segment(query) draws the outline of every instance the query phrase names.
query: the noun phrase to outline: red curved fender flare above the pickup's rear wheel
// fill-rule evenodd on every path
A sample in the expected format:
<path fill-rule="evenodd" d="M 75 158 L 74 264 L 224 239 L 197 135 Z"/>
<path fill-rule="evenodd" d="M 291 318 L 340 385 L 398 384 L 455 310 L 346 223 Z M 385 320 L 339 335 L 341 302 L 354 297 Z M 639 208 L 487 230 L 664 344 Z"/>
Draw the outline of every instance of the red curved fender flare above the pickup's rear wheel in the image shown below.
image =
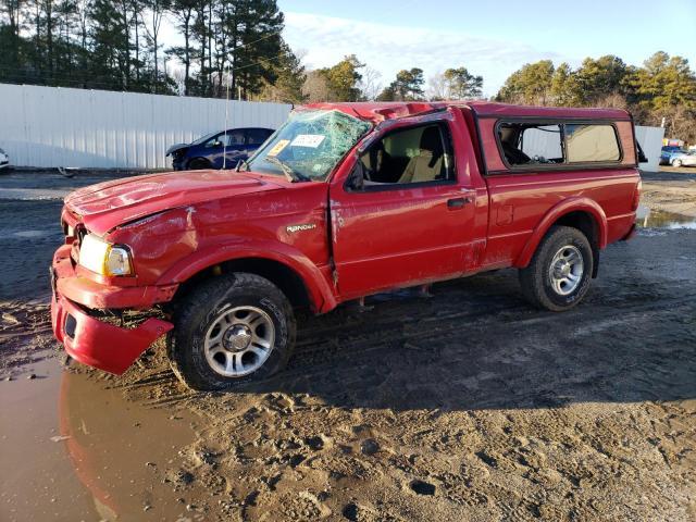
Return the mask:
<path fill-rule="evenodd" d="M 571 212 L 586 212 L 593 216 L 595 223 L 597 224 L 597 234 L 598 234 L 598 247 L 600 249 L 607 246 L 607 214 L 601 209 L 601 207 L 589 198 L 569 198 L 559 202 L 558 204 L 551 207 L 542 221 L 536 225 L 532 236 L 527 239 L 524 248 L 518 259 L 514 262 L 514 266 L 517 268 L 525 268 L 532 261 L 532 257 L 536 251 L 539 243 L 546 235 L 554 224 L 561 219 L 563 215 L 569 214 Z"/>

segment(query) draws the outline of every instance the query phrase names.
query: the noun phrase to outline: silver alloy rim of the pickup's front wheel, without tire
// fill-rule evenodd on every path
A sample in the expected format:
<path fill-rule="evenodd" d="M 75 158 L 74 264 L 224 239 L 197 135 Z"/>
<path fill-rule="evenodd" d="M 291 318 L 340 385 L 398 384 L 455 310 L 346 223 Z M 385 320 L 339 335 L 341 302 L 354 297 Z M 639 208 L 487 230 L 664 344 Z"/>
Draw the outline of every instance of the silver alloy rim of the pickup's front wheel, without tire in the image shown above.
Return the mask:
<path fill-rule="evenodd" d="M 243 377 L 268 361 L 275 344 L 271 316 L 257 307 L 236 307 L 217 314 L 206 332 L 210 368 L 225 377 Z"/>

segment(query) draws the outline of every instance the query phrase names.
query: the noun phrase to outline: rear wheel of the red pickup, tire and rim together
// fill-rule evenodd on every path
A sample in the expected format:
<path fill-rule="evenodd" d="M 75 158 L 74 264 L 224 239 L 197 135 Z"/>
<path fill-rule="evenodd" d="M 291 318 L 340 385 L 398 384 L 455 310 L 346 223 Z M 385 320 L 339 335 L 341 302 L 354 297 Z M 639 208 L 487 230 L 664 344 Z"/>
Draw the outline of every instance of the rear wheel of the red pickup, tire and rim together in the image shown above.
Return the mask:
<path fill-rule="evenodd" d="M 555 226 L 542 240 L 530 264 L 520 270 L 524 297 L 533 304 L 561 312 L 577 304 L 594 268 L 592 247 L 577 228 Z"/>

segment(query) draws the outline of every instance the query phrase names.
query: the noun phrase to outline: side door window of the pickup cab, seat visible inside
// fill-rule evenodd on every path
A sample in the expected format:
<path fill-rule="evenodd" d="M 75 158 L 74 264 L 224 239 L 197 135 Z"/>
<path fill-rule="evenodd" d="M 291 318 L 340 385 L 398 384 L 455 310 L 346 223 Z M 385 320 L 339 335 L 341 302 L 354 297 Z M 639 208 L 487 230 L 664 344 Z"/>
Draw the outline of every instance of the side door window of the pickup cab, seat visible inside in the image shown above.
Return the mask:
<path fill-rule="evenodd" d="M 446 129 L 439 124 L 395 130 L 361 157 L 364 186 L 407 185 L 452 178 Z"/>

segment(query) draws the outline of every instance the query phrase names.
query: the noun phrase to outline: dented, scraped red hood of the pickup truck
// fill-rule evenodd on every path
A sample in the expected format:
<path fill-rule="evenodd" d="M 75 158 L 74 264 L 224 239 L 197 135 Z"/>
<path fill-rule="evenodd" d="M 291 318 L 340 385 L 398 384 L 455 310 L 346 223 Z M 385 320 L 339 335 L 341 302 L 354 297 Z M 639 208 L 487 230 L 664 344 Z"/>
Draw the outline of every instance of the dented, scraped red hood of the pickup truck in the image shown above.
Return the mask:
<path fill-rule="evenodd" d="M 87 229 L 103 235 L 164 210 L 278 188 L 282 185 L 234 171 L 164 173 L 90 185 L 70 194 L 65 206 Z"/>

